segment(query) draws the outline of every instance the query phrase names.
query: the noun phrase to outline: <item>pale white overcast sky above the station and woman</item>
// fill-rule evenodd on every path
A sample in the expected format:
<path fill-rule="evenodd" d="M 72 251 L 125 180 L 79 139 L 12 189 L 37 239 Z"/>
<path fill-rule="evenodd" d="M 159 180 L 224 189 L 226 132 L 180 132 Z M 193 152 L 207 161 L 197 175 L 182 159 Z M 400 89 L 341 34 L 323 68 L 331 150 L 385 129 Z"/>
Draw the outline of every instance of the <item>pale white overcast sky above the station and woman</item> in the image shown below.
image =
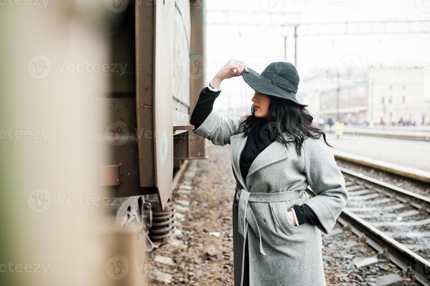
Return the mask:
<path fill-rule="evenodd" d="M 427 3 L 427 5 L 426 5 Z M 270 6 L 269 6 L 270 4 Z M 272 7 L 272 8 L 271 8 Z M 350 22 L 430 20 L 428 0 L 208 0 L 207 18 L 211 10 L 300 13 L 300 22 Z M 267 17 L 276 12 L 267 12 Z M 427 26 L 428 27 L 428 26 Z M 429 30 L 427 28 L 427 30 Z M 284 36 L 287 36 L 287 62 L 294 64 L 294 37 L 280 27 L 240 25 L 206 26 L 206 80 L 230 58 L 242 59 L 259 73 L 270 62 L 284 60 Z M 357 55 L 362 65 L 368 62 L 383 64 L 422 64 L 430 62 L 430 34 L 300 36 L 298 30 L 297 66 L 301 80 L 316 69 L 336 69 L 347 55 Z M 302 83 L 302 81 L 301 81 Z M 252 89 L 241 77 L 223 81 L 223 92 L 215 101 L 215 109 L 251 106 L 245 100 L 227 99 L 236 94 L 251 94 Z M 304 87 L 299 84 L 298 97 Z M 224 96 L 223 96 L 224 95 Z M 226 104 L 229 103 L 230 105 Z"/>

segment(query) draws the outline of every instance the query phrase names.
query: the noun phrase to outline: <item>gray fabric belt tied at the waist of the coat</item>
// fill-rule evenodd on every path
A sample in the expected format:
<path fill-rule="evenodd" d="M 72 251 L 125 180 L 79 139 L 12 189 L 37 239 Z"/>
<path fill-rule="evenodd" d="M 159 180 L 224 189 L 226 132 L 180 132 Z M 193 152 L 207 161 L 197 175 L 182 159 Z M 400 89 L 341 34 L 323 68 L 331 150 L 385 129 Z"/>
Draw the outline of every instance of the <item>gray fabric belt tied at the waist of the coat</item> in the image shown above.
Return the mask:
<path fill-rule="evenodd" d="M 263 249 L 263 243 L 261 242 L 260 228 L 258 228 L 257 220 L 255 219 L 251 206 L 249 206 L 249 202 L 283 202 L 295 199 L 296 197 L 301 197 L 303 193 L 303 190 L 283 191 L 276 193 L 250 193 L 243 188 L 239 189 L 236 193 L 236 199 L 239 201 L 239 212 L 237 214 L 237 228 L 239 233 L 245 238 L 245 225 L 246 221 L 248 221 L 255 235 L 260 240 L 260 252 L 263 255 L 266 255 Z"/>

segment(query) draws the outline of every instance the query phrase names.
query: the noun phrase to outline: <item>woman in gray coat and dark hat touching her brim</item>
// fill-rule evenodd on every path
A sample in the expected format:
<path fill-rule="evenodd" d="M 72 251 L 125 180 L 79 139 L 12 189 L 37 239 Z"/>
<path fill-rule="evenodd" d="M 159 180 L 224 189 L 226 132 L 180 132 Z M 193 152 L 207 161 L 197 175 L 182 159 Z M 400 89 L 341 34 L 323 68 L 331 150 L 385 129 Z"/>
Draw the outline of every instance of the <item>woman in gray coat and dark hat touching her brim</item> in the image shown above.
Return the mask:
<path fill-rule="evenodd" d="M 212 109 L 221 81 L 240 75 L 255 90 L 251 113 L 223 117 Z M 291 63 L 258 74 L 230 60 L 190 118 L 195 134 L 231 145 L 235 286 L 326 285 L 321 231 L 332 230 L 348 194 L 325 133 L 295 97 L 298 83 Z"/>

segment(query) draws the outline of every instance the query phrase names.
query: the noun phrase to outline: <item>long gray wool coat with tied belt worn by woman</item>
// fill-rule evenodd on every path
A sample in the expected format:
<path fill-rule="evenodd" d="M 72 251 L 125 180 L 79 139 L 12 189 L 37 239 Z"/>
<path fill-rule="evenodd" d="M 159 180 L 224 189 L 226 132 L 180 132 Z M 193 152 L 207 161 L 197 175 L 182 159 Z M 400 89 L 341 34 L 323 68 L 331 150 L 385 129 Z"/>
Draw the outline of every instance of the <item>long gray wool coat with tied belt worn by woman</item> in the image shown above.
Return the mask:
<path fill-rule="evenodd" d="M 193 133 L 215 145 L 231 145 L 231 163 L 237 185 L 233 198 L 234 285 L 243 285 L 249 271 L 250 285 L 326 285 L 322 264 L 321 231 L 329 233 L 346 206 L 344 177 L 333 152 L 319 139 L 307 137 L 301 156 L 291 145 L 279 141 L 265 148 L 252 162 L 246 180 L 240 173 L 240 154 L 246 137 L 239 130 L 240 117 L 223 117 L 212 110 Z M 242 133 L 233 135 L 233 132 Z M 315 197 L 309 199 L 308 186 Z M 322 228 L 305 223 L 295 226 L 287 212 L 306 204 Z M 245 239 L 248 238 L 249 269 L 244 269 Z"/>

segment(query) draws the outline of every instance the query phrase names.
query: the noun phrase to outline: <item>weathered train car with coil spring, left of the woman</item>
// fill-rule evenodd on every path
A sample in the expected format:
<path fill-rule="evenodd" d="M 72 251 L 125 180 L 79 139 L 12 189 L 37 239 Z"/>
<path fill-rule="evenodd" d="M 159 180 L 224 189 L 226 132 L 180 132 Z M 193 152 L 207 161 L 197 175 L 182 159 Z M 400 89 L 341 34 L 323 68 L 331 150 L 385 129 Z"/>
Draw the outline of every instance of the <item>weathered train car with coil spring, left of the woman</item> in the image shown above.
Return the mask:
<path fill-rule="evenodd" d="M 108 214 L 121 228 L 138 228 L 151 251 L 173 238 L 175 173 L 207 157 L 189 121 L 206 80 L 205 2 L 125 2 L 111 6 L 112 63 L 127 68 L 102 98 L 107 156 L 99 177 L 112 196 Z"/>

